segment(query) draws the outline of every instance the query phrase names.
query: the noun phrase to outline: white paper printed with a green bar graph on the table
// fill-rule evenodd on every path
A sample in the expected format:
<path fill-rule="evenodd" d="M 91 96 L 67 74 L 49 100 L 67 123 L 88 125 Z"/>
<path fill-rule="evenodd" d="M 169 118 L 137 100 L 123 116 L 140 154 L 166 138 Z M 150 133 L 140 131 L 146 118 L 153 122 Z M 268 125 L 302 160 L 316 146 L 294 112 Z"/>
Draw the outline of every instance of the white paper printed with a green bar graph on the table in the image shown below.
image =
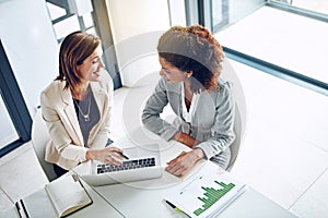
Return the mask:
<path fill-rule="evenodd" d="M 209 217 L 221 213 L 243 193 L 244 186 L 225 172 L 199 172 L 165 199 L 189 217 Z"/>

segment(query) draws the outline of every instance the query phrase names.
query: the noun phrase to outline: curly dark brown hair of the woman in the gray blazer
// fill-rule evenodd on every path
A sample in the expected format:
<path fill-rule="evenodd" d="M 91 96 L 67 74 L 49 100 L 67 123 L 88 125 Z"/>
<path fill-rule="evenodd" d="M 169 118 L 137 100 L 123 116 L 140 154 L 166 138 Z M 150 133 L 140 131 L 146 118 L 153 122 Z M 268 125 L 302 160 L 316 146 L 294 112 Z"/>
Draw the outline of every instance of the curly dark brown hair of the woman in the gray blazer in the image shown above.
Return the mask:
<path fill-rule="evenodd" d="M 157 44 L 161 58 L 179 69 L 192 71 L 191 90 L 219 88 L 216 78 L 221 74 L 224 58 L 222 46 L 201 25 L 173 26 Z"/>

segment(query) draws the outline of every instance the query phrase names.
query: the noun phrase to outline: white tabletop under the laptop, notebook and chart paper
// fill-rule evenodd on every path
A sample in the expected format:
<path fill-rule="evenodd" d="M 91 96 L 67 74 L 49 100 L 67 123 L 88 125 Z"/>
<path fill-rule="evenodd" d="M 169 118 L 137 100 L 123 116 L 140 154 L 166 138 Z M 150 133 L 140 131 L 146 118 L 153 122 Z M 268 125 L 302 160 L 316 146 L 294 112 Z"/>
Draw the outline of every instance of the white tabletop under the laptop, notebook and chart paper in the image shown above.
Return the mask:
<path fill-rule="evenodd" d="M 131 145 L 147 145 L 157 143 L 161 147 L 161 165 L 166 166 L 166 161 L 173 159 L 183 150 L 190 148 L 180 143 L 171 141 L 164 142 L 159 136 L 144 129 L 137 129 L 127 136 L 115 142 L 120 147 Z M 163 177 L 153 180 L 113 184 L 104 186 L 90 186 L 85 184 L 87 192 L 93 198 L 93 204 L 70 215 L 69 217 L 184 217 L 163 202 L 165 195 L 174 190 L 183 181 L 187 181 L 192 174 L 197 173 L 202 167 L 211 167 L 220 171 L 220 167 L 211 161 L 202 160 L 184 179 L 177 178 L 166 171 Z M 69 173 L 85 174 L 91 170 L 91 162 L 79 165 Z M 222 171 L 222 170 L 221 170 Z M 31 217 L 56 217 L 52 206 L 44 189 L 24 198 L 28 206 Z M 15 207 L 0 213 L 0 217 L 17 218 Z M 282 208 L 268 197 L 247 185 L 245 192 L 232 202 L 216 217 L 224 218 L 294 218 L 296 217 L 289 210 Z"/>

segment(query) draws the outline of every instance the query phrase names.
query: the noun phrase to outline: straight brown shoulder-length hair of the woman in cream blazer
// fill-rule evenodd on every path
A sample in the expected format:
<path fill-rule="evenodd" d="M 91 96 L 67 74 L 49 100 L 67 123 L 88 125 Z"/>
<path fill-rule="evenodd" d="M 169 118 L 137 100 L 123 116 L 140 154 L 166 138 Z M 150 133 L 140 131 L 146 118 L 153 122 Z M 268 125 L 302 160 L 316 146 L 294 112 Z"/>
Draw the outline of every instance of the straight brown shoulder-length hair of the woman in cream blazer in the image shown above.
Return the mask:
<path fill-rule="evenodd" d="M 74 89 L 81 83 L 81 75 L 77 66 L 91 56 L 101 45 L 101 39 L 92 34 L 81 31 L 69 34 L 62 40 L 59 50 L 59 75 L 58 81 L 66 81 L 65 88 Z"/>

